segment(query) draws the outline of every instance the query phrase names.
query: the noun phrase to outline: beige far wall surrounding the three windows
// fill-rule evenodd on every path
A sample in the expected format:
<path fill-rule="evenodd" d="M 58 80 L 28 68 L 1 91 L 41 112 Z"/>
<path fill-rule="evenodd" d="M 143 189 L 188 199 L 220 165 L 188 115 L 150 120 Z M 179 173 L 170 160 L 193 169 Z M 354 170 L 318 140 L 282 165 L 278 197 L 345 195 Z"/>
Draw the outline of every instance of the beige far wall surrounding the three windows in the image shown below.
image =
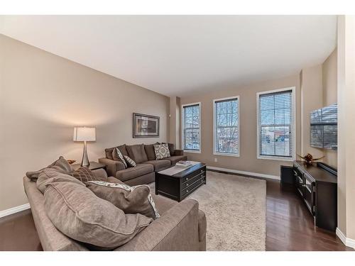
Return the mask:
<path fill-rule="evenodd" d="M 290 162 L 277 160 L 261 160 L 256 158 L 256 93 L 285 87 L 296 87 L 297 106 L 297 150 L 300 150 L 300 82 L 295 74 L 283 79 L 259 82 L 245 87 L 223 89 L 216 88 L 214 92 L 202 95 L 182 97 L 181 104 L 201 102 L 201 153 L 187 153 L 190 160 L 200 160 L 209 166 L 222 167 L 231 170 L 255 172 L 280 176 L 280 165 L 290 165 Z M 213 99 L 228 96 L 240 96 L 240 157 L 213 155 Z M 214 162 L 217 158 L 217 162 Z"/>

